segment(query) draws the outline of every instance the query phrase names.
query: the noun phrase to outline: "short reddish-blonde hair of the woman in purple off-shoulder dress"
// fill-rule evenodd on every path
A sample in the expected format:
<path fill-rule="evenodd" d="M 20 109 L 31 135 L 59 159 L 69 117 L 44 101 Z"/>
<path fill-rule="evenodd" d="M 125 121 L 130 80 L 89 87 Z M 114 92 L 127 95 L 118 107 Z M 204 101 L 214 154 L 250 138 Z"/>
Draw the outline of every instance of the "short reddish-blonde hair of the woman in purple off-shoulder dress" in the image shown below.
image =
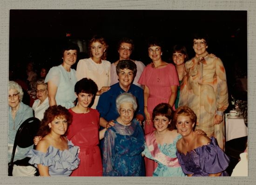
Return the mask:
<path fill-rule="evenodd" d="M 189 116 L 189 118 L 191 119 L 192 123 L 195 123 L 193 130 L 195 131 L 195 126 L 196 126 L 196 115 L 195 112 L 190 109 L 188 106 L 180 106 L 176 109 L 174 115 L 173 115 L 173 119 L 172 122 L 174 124 L 176 124 L 177 122 L 177 118 L 178 116 Z"/>

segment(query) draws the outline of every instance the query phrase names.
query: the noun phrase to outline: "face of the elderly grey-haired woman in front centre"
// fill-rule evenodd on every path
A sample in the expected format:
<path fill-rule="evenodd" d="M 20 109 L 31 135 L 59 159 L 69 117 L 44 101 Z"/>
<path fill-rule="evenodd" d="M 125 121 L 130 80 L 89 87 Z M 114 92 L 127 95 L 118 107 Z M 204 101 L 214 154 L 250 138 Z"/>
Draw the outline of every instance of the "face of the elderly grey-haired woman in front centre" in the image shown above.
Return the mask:
<path fill-rule="evenodd" d="M 120 105 L 118 113 L 120 115 L 122 123 L 124 123 L 125 125 L 129 125 L 133 120 L 134 116 L 133 104 L 129 102 L 122 103 Z"/>

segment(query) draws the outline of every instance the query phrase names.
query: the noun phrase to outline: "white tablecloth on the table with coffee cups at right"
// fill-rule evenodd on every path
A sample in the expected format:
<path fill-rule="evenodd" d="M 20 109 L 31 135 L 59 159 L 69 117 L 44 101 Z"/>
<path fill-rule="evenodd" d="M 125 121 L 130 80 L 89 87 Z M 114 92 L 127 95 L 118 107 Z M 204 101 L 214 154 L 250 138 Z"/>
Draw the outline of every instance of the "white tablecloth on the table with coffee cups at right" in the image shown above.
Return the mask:
<path fill-rule="evenodd" d="M 247 136 L 247 126 L 243 121 L 243 116 L 230 118 L 225 114 L 226 141 Z"/>

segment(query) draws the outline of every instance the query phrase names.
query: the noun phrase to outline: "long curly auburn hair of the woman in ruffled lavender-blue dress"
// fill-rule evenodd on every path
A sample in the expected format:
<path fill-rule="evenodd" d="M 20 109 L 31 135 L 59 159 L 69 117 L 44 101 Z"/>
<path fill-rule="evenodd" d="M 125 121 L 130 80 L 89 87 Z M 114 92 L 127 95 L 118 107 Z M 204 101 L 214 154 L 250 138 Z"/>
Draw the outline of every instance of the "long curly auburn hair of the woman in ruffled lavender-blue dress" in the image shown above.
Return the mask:
<path fill-rule="evenodd" d="M 67 119 L 67 128 L 72 123 L 72 114 L 63 106 L 50 106 L 44 112 L 44 118 L 41 121 L 40 128 L 37 132 L 37 136 L 44 137 L 50 133 L 51 129 L 48 124 L 51 123 L 55 118 Z"/>

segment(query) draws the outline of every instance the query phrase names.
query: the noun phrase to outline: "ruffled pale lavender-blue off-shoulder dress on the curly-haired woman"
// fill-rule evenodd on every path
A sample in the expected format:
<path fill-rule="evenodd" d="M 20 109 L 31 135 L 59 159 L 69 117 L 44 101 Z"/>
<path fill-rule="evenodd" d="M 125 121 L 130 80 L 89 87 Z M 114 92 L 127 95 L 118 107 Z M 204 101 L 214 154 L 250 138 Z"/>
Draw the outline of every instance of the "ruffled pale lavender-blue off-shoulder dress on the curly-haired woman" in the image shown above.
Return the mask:
<path fill-rule="evenodd" d="M 71 141 L 67 141 L 68 149 L 61 151 L 53 146 L 49 146 L 47 152 L 40 152 L 34 149 L 27 152 L 28 162 L 37 167 L 38 164 L 49 167 L 50 176 L 70 176 L 80 163 L 78 158 L 78 146 L 74 146 Z"/>

